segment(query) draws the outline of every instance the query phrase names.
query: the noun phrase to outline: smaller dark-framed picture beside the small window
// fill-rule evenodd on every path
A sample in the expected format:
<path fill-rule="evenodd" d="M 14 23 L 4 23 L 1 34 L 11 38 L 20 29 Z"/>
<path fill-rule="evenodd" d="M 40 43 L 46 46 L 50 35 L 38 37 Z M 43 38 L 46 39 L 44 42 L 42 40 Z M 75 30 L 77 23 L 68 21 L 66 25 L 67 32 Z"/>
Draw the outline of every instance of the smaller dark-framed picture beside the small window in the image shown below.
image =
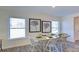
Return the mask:
<path fill-rule="evenodd" d="M 42 21 L 42 33 L 51 32 L 51 21 Z"/>

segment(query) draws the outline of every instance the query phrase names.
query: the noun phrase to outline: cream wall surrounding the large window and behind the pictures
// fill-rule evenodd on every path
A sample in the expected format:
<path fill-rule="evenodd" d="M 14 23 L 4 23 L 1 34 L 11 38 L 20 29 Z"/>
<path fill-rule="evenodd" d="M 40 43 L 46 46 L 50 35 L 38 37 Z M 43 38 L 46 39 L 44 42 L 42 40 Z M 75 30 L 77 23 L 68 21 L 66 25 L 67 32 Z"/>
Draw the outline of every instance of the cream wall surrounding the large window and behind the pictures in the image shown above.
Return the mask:
<path fill-rule="evenodd" d="M 22 17 L 26 19 L 26 39 L 16 39 L 16 40 L 9 40 L 9 17 Z M 20 12 L 14 12 L 14 11 L 5 11 L 0 10 L 0 39 L 2 39 L 2 48 L 11 48 L 21 45 L 29 44 L 28 38 L 34 38 L 38 33 L 29 33 L 29 18 L 38 18 L 41 20 L 59 20 L 60 17 L 51 17 L 46 14 L 26 14 L 26 13 L 20 13 Z"/>

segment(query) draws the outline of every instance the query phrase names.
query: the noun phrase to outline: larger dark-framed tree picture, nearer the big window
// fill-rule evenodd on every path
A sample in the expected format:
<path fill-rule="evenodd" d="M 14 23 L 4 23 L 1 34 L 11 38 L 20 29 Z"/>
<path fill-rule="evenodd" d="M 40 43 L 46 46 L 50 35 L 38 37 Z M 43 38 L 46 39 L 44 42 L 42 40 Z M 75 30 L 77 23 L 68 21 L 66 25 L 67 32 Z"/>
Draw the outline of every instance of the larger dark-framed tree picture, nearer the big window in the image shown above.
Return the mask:
<path fill-rule="evenodd" d="M 41 19 L 29 18 L 29 32 L 41 32 Z"/>

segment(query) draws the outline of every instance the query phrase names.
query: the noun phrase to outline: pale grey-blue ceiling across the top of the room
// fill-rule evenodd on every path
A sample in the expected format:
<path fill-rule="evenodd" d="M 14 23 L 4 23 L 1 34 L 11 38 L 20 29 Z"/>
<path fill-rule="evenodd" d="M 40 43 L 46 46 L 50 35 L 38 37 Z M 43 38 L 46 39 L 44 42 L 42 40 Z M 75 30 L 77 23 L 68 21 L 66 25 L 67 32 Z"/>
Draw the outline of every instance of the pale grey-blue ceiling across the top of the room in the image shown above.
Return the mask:
<path fill-rule="evenodd" d="M 21 13 L 43 13 L 51 16 L 66 16 L 79 12 L 79 6 L 0 6 L 0 10 L 18 11 Z"/>

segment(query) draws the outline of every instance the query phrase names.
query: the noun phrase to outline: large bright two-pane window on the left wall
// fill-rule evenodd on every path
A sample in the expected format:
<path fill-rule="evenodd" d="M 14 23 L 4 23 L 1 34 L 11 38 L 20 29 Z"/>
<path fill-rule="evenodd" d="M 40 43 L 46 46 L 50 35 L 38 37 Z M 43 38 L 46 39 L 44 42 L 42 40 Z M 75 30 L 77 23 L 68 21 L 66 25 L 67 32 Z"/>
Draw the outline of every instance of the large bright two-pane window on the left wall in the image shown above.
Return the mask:
<path fill-rule="evenodd" d="M 25 37 L 25 19 L 10 18 L 10 39 Z"/>

